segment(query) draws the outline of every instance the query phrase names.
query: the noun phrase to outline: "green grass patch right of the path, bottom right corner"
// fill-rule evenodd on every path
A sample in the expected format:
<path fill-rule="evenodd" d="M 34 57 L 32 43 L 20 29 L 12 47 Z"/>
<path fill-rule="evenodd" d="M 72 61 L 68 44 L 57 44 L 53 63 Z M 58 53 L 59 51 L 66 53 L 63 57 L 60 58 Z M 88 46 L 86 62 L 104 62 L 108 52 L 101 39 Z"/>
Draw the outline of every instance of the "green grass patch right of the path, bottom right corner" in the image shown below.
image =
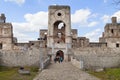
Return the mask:
<path fill-rule="evenodd" d="M 101 72 L 89 71 L 89 73 L 100 78 L 101 80 L 120 80 L 120 68 L 106 69 Z"/>

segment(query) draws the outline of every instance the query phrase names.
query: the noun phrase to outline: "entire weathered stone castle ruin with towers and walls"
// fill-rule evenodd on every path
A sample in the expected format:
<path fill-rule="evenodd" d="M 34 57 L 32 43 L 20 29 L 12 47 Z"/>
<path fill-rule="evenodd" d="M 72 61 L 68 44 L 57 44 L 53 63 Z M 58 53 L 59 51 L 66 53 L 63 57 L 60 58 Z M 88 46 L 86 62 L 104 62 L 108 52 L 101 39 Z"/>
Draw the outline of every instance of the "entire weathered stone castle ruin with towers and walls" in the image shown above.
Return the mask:
<path fill-rule="evenodd" d="M 12 24 L 6 23 L 5 15 L 1 14 L 1 65 L 38 65 L 40 56 L 50 56 L 53 60 L 57 52 L 62 51 L 65 61 L 72 56 L 77 61 L 83 61 L 85 68 L 119 66 L 120 23 L 117 23 L 116 17 L 112 17 L 112 23 L 105 25 L 99 42 L 89 42 L 88 38 L 77 35 L 77 29 L 71 29 L 69 6 L 49 6 L 48 15 L 48 29 L 40 30 L 38 40 L 17 43 Z"/>

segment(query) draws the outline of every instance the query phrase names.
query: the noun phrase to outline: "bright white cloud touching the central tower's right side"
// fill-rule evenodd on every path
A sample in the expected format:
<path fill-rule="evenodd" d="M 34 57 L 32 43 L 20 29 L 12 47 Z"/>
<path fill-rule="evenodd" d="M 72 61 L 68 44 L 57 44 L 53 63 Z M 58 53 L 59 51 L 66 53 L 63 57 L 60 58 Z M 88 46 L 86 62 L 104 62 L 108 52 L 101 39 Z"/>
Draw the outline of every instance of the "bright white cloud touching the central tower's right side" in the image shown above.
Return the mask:
<path fill-rule="evenodd" d="M 71 22 L 78 26 L 93 27 L 97 25 L 98 22 L 89 20 L 95 17 L 97 17 L 97 14 L 93 14 L 90 9 L 80 9 L 71 15 Z"/>

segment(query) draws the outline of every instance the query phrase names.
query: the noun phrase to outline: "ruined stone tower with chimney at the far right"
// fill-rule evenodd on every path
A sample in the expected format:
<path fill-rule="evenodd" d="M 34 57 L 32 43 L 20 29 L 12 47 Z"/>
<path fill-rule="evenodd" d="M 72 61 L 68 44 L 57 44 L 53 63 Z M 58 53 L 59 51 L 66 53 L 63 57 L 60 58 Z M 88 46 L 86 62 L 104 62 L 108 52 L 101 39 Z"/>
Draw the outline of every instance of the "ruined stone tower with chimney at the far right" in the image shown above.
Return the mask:
<path fill-rule="evenodd" d="M 105 31 L 103 32 L 100 42 L 106 42 L 108 47 L 119 48 L 120 47 L 120 23 L 117 23 L 117 17 L 111 18 L 112 23 L 105 25 Z"/>

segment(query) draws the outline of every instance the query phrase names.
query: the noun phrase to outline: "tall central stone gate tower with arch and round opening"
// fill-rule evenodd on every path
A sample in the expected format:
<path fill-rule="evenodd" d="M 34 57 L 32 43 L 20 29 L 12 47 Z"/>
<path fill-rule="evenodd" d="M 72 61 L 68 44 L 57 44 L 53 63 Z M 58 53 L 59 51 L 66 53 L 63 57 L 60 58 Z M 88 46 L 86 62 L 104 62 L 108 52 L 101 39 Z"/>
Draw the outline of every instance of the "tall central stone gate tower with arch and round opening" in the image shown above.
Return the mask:
<path fill-rule="evenodd" d="M 71 48 L 71 16 L 69 6 L 49 6 L 47 47 L 52 53 L 62 50 L 67 55 Z"/>

